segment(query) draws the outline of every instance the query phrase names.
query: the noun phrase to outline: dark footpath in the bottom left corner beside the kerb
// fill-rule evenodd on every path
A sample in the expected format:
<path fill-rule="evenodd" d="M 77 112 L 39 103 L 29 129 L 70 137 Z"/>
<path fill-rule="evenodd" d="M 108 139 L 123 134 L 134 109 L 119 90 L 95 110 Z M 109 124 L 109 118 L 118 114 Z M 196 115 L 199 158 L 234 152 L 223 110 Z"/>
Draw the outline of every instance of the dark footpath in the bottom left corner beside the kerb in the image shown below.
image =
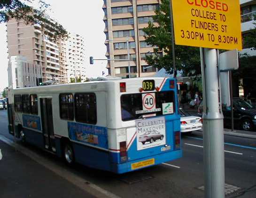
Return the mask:
<path fill-rule="evenodd" d="M 0 198 L 93 198 L 31 158 L 0 141 Z"/>

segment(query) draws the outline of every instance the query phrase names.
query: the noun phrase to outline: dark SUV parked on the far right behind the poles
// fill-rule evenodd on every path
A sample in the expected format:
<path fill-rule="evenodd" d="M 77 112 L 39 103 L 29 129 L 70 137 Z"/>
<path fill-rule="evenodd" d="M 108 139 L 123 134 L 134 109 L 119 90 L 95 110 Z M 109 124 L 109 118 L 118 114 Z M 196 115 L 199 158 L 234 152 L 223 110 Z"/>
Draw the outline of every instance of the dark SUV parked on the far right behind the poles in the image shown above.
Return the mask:
<path fill-rule="evenodd" d="M 198 107 L 198 115 L 202 116 L 202 102 Z M 224 126 L 231 128 L 231 107 L 222 106 L 224 115 Z M 234 127 L 243 131 L 254 131 L 256 129 L 256 109 L 240 98 L 233 99 Z"/>

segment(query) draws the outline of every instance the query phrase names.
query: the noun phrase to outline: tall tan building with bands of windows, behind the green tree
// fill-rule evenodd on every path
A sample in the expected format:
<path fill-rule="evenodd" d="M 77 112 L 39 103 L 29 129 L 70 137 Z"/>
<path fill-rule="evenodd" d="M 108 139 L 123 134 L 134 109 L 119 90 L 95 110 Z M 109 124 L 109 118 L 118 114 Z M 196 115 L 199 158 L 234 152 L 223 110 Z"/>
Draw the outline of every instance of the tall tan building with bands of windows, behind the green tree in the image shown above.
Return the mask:
<path fill-rule="evenodd" d="M 152 76 L 156 69 L 149 66 L 146 54 L 153 52 L 153 46 L 145 42 L 143 28 L 154 22 L 152 15 L 160 0 L 104 0 L 106 46 L 108 59 L 128 59 L 127 38 L 130 45 L 132 77 Z M 155 22 L 154 22 L 155 23 Z M 155 23 L 157 25 L 157 23 Z M 110 60 L 107 68 L 112 76 L 129 77 L 128 61 Z"/>

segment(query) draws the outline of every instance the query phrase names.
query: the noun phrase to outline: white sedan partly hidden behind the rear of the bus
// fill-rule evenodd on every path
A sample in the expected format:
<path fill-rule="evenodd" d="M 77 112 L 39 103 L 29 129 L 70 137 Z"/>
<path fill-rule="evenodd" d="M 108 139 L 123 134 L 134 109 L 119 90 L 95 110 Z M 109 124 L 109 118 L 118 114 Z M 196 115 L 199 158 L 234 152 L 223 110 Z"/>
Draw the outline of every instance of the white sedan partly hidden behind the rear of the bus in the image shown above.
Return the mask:
<path fill-rule="evenodd" d="M 202 129 L 202 118 L 191 116 L 183 109 L 179 109 L 180 132 L 193 132 Z"/>

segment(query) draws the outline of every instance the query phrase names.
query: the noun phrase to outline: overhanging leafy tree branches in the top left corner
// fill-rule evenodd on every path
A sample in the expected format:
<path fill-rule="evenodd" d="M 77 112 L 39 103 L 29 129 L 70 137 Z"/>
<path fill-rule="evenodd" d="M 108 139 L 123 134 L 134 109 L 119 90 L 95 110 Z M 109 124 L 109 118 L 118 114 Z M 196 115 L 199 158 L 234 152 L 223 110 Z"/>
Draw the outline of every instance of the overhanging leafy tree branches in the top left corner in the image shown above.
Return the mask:
<path fill-rule="evenodd" d="M 39 0 L 39 9 L 33 9 L 28 6 L 28 3 L 33 3 L 35 0 L 0 0 L 0 23 L 8 22 L 15 18 L 17 21 L 25 22 L 26 24 L 39 23 L 42 31 L 53 39 L 69 37 L 69 33 L 63 26 L 57 22 L 49 21 L 45 16 L 45 11 L 49 7 L 44 0 Z"/>

